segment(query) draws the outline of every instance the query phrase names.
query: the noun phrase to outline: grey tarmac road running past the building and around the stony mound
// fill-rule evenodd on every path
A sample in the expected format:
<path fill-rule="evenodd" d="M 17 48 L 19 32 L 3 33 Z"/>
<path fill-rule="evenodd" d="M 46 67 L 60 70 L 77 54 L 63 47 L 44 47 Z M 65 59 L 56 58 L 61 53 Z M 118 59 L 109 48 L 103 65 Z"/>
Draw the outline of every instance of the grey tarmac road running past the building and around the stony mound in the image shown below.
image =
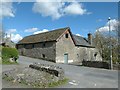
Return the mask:
<path fill-rule="evenodd" d="M 67 64 L 57 64 L 40 59 L 28 58 L 24 56 L 19 57 L 19 65 L 3 65 L 2 70 L 6 71 L 11 68 L 28 66 L 33 62 L 42 64 L 57 65 L 64 69 L 65 76 L 69 78 L 66 85 L 57 88 L 118 88 L 118 71 L 98 68 L 89 68 L 83 66 L 74 66 Z M 3 87 L 14 87 L 3 80 Z M 26 87 L 26 86 L 18 86 Z"/>

